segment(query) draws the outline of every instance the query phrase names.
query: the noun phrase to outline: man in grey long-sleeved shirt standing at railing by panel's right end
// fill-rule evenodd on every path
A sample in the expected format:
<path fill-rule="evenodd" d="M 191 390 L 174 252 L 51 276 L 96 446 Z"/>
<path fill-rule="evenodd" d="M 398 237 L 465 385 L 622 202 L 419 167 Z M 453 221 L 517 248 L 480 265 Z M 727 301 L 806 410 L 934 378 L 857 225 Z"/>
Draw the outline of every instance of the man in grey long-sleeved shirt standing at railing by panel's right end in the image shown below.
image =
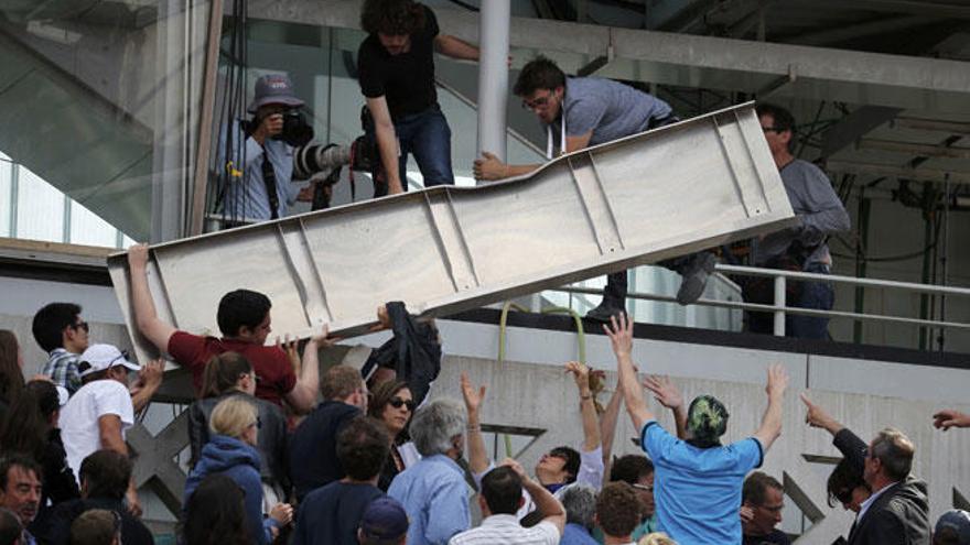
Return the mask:
<path fill-rule="evenodd" d="M 795 159 L 790 145 L 795 118 L 788 110 L 768 103 L 757 107 L 758 119 L 765 132 L 768 149 L 782 174 L 785 192 L 799 225 L 773 232 L 753 243 L 754 263 L 767 268 L 800 268 L 805 272 L 830 274 L 832 257 L 826 238 L 851 228 L 849 214 L 832 189 L 828 176 L 816 165 Z M 828 282 L 793 282 L 789 306 L 830 310 L 834 291 Z M 746 297 L 748 298 L 748 297 Z M 770 313 L 747 313 L 747 329 L 770 334 Z M 827 339 L 829 319 L 788 314 L 785 334 L 788 337 Z"/>

